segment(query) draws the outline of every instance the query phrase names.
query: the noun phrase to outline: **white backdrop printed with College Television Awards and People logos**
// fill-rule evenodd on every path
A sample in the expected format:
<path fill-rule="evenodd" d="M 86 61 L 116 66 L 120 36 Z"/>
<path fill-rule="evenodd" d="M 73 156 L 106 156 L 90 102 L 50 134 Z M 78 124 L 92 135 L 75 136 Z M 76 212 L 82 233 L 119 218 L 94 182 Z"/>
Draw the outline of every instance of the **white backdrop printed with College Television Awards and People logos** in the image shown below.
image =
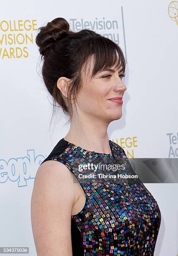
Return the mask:
<path fill-rule="evenodd" d="M 69 130 L 41 75 L 35 36 L 57 17 L 94 30 L 126 60 L 123 115 L 109 139 L 129 159 L 178 158 L 178 1 L 3 2 L 0 10 L 0 247 L 35 256 L 30 199 L 39 164 Z M 162 213 L 155 256 L 178 254 L 178 184 L 146 183 Z M 10 254 L 11 255 L 11 254 Z M 14 254 L 12 254 L 14 255 Z"/>

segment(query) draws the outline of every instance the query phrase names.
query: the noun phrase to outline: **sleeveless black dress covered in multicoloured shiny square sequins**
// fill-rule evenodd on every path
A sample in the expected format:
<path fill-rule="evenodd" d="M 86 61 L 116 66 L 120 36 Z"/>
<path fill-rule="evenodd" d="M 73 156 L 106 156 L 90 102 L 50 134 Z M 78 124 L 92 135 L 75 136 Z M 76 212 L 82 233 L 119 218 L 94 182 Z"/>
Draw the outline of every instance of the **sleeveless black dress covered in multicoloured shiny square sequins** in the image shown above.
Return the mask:
<path fill-rule="evenodd" d="M 123 148 L 110 140 L 109 144 L 111 153 L 102 154 L 62 138 L 43 161 L 65 164 L 85 192 L 83 209 L 71 215 L 73 256 L 152 256 L 161 214 L 157 201 L 144 184 L 139 179 L 137 182 L 133 179 L 132 183 L 79 179 L 76 166 L 108 159 L 118 163 L 126 161 L 129 172 L 135 174 Z M 84 172 L 87 174 L 88 170 Z"/>

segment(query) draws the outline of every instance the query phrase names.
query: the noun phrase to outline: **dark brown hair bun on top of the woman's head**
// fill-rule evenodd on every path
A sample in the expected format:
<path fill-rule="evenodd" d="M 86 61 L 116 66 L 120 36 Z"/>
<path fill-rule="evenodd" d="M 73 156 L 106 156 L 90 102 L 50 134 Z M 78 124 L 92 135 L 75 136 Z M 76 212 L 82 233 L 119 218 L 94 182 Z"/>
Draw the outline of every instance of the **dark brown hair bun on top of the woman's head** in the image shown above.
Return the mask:
<path fill-rule="evenodd" d="M 45 55 L 46 50 L 50 49 L 56 41 L 68 35 L 69 23 L 64 18 L 55 18 L 38 30 L 40 32 L 36 36 L 35 42 L 39 46 L 40 54 Z"/>

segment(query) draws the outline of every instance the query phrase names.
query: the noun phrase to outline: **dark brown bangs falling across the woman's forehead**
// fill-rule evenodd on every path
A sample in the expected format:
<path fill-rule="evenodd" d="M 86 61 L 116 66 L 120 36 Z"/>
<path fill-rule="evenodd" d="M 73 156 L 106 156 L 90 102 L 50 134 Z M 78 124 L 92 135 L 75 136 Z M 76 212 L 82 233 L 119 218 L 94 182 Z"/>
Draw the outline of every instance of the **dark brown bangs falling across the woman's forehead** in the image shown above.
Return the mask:
<path fill-rule="evenodd" d="M 89 64 L 88 73 L 90 72 L 91 59 L 93 56 L 93 70 L 90 74 L 91 78 L 111 67 L 120 69 L 120 71 L 123 71 L 123 74 L 125 74 L 125 57 L 123 51 L 117 44 L 103 36 L 94 38 L 92 44 L 89 40 L 88 44 L 89 47 L 85 45 L 85 61 L 87 61 L 83 68 L 86 72 L 86 63 Z"/>

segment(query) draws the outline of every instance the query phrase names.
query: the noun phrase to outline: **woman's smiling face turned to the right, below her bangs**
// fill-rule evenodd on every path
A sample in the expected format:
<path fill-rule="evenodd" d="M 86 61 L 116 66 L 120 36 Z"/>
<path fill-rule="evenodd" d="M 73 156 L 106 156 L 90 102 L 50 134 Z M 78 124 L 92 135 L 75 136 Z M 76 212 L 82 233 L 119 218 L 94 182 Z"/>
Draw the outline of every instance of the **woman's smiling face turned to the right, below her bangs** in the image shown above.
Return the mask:
<path fill-rule="evenodd" d="M 118 120 L 122 116 L 122 104 L 110 100 L 114 97 L 123 97 L 127 87 L 122 82 L 122 68 L 112 71 L 103 71 L 90 78 L 93 70 L 93 59 L 90 68 L 87 66 L 83 75 L 83 88 L 77 97 L 79 114 L 90 115 L 93 118 L 102 118 L 106 122 Z"/>

